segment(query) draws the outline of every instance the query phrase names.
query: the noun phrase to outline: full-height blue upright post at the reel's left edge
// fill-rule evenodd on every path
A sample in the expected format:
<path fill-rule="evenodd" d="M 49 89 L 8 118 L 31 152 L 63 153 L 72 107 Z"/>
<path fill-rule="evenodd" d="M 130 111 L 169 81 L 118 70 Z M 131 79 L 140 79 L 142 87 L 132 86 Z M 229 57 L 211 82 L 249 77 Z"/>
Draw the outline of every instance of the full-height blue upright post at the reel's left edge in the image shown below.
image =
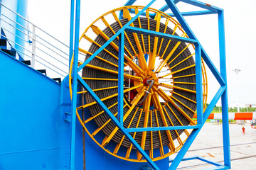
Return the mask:
<path fill-rule="evenodd" d="M 75 7 L 75 45 L 74 45 L 74 63 L 73 63 L 73 84 L 72 84 L 72 121 L 70 137 L 70 170 L 75 170 L 75 120 L 77 108 L 77 91 L 78 91 L 78 46 L 79 46 L 79 29 L 80 29 L 80 0 L 76 0 Z M 72 16 L 72 14 L 71 14 Z M 72 28 L 72 26 L 70 26 Z M 70 30 L 73 31 L 73 30 Z M 70 56 L 72 57 L 72 56 Z"/>

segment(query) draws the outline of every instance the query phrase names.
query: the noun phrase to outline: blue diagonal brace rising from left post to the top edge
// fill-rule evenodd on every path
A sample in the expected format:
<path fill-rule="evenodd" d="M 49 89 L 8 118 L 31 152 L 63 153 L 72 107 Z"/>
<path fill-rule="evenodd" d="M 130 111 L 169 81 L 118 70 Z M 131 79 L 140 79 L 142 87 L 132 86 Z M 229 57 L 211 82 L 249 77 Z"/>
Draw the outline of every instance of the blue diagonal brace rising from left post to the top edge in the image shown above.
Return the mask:
<path fill-rule="evenodd" d="M 85 67 L 86 64 L 88 64 L 90 61 L 92 61 L 92 59 L 93 59 L 96 55 L 98 55 L 103 49 L 105 49 L 105 47 L 107 47 L 107 45 L 109 45 L 110 42 L 112 42 L 112 41 L 114 40 L 114 38 L 117 38 L 117 36 L 118 36 L 120 33 L 122 33 L 129 25 L 131 25 L 131 23 L 132 23 L 133 21 L 135 21 L 144 11 L 146 11 L 146 9 L 149 8 L 149 6 L 151 6 L 151 4 L 154 3 L 154 1 L 156 1 L 156 0 L 150 1 L 149 4 L 147 4 L 147 5 L 142 9 L 142 11 L 139 11 L 139 13 L 138 13 L 136 16 L 134 16 L 134 17 L 133 17 L 127 24 L 125 24 L 121 29 L 119 29 L 119 30 L 117 31 L 117 33 L 115 33 L 115 34 L 112 36 L 112 38 L 110 38 L 110 40 L 107 40 L 107 42 L 105 42 L 105 44 L 102 45 L 102 47 L 100 47 L 95 53 L 93 53 L 92 56 L 90 56 L 84 63 L 82 63 L 82 65 L 78 68 L 78 72 L 79 72 L 83 67 Z"/>

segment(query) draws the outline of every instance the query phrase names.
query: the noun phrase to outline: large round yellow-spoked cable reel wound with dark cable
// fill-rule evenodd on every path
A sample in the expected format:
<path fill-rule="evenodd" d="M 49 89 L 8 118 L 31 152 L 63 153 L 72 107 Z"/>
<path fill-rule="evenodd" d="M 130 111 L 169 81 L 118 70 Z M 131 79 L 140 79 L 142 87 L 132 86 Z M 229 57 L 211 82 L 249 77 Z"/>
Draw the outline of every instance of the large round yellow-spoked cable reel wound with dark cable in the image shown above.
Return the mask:
<path fill-rule="evenodd" d="M 130 8 L 141 7 L 130 6 Z M 126 10 L 126 8 L 116 9 L 116 11 L 119 10 Z M 110 11 L 107 14 L 112 14 L 115 17 L 116 11 Z M 159 13 L 159 11 L 154 9 L 151 9 L 151 11 Z M 91 43 L 87 51 L 80 49 L 80 52 L 86 55 L 85 61 L 132 18 L 124 17 L 118 20 L 115 17 L 116 21 L 108 24 L 104 18 L 107 14 L 97 19 L 105 23 L 105 29 L 100 30 L 100 28 L 95 26 L 95 23 L 90 25 L 90 28 L 97 35 L 94 40 L 88 38 L 85 34 L 82 36 L 82 38 Z M 161 15 L 164 16 L 166 14 L 161 13 Z M 174 20 L 169 16 L 167 19 L 170 21 Z M 180 28 L 170 28 L 157 19 L 144 16 L 137 18 L 131 26 L 176 36 L 178 36 L 176 29 Z M 178 26 L 178 23 L 176 26 Z M 196 125 L 192 120 L 193 115 L 196 113 L 196 71 L 195 61 L 193 60 L 194 54 L 188 48 L 190 44 L 128 31 L 124 33 L 124 68 L 127 69 L 124 70 L 124 128 Z M 82 79 L 105 103 L 105 106 L 109 108 L 115 117 L 117 117 L 117 88 L 119 86 L 118 47 L 119 40 L 117 37 L 82 69 Z M 143 65 L 142 61 L 145 54 L 149 55 L 149 61 L 145 62 L 146 66 Z M 153 57 L 159 59 L 154 64 L 151 63 L 154 61 Z M 135 60 L 138 60 L 139 64 Z M 204 65 L 202 64 L 202 66 L 205 73 Z M 128 69 L 131 70 L 128 72 Z M 165 74 L 161 70 L 165 70 L 162 71 Z M 166 83 L 163 80 L 166 80 Z M 149 88 L 149 84 L 145 84 L 145 82 L 154 82 L 154 84 L 152 88 Z M 204 76 L 203 82 L 205 82 L 203 84 L 205 89 L 207 83 Z M 168 92 L 164 90 L 168 90 Z M 147 91 L 149 91 L 148 96 L 146 95 Z M 103 149 L 121 159 L 143 162 L 144 159 L 139 157 L 138 154 L 137 160 L 129 158 L 131 150 L 135 149 L 132 143 L 112 123 L 90 94 L 87 94 L 86 91 L 81 91 L 80 93 L 84 94 L 86 104 L 82 103 L 82 106 L 78 107 L 77 110 L 88 108 L 90 111 L 90 118 L 82 123 L 90 137 L 95 140 L 94 137 L 99 132 L 103 132 L 105 135 L 104 139 L 100 141 L 95 140 Z M 138 103 L 142 104 L 139 105 Z M 93 132 L 89 132 L 85 124 L 91 120 L 97 125 L 97 129 Z M 184 140 L 180 136 L 183 132 L 185 132 L 187 137 L 189 136 L 187 130 L 130 132 L 130 135 L 141 145 L 142 149 L 149 150 L 151 159 L 159 160 L 182 147 Z M 178 147 L 174 144 L 175 141 L 178 141 L 176 142 L 179 144 Z M 116 143 L 114 151 L 107 149 L 107 145 L 110 142 Z M 164 153 L 163 148 L 165 146 L 169 147 L 169 153 L 167 154 Z M 126 148 L 125 156 L 117 154 L 120 148 Z M 161 157 L 152 156 L 155 149 L 160 150 Z"/>

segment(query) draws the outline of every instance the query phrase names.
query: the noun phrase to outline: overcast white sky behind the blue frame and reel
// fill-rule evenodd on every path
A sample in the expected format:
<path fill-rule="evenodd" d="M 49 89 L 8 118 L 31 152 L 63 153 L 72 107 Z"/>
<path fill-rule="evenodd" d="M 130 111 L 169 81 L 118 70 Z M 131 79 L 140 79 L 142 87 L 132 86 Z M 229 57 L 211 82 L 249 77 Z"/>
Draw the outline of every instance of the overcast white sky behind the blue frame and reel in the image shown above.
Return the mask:
<path fill-rule="evenodd" d="M 125 2 L 125 0 L 81 0 L 80 34 L 98 16 L 123 6 Z M 137 0 L 137 4 L 142 6 L 148 2 L 148 0 Z M 256 1 L 208 0 L 204 2 L 225 10 L 228 103 L 236 103 L 237 80 L 233 69 L 238 68 L 242 70 L 238 74 L 239 101 L 243 104 L 256 104 L 256 44 L 254 42 L 256 40 Z M 151 7 L 161 8 L 164 3 L 163 0 L 156 0 Z M 197 9 L 181 2 L 178 3 L 178 8 L 180 11 Z M 28 0 L 28 18 L 36 26 L 69 44 L 69 0 Z M 217 15 L 189 16 L 185 19 L 219 69 Z M 208 103 L 218 87 L 218 82 L 208 71 Z"/>

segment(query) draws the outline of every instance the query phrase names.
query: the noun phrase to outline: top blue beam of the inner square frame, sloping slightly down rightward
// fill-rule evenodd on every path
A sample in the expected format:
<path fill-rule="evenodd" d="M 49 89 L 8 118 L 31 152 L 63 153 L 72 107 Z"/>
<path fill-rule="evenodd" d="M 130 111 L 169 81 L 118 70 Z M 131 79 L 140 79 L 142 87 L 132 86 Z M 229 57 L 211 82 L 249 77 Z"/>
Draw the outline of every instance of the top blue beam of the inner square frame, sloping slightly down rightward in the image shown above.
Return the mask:
<path fill-rule="evenodd" d="M 179 36 L 176 36 L 176 35 L 170 35 L 170 34 L 156 32 L 154 30 L 146 30 L 146 29 L 136 28 L 136 27 L 131 27 L 131 26 L 127 27 L 125 29 L 125 31 L 129 31 L 129 32 L 132 32 L 132 33 L 140 33 L 140 34 L 143 34 L 143 35 L 151 35 L 151 36 L 154 36 L 154 37 L 165 38 L 165 39 L 168 39 L 168 40 L 176 40 L 176 41 L 181 41 L 181 42 L 187 42 L 187 43 L 191 43 L 191 44 L 197 42 L 197 40 L 193 40 L 191 38 L 182 38 L 182 37 L 179 37 Z"/>

